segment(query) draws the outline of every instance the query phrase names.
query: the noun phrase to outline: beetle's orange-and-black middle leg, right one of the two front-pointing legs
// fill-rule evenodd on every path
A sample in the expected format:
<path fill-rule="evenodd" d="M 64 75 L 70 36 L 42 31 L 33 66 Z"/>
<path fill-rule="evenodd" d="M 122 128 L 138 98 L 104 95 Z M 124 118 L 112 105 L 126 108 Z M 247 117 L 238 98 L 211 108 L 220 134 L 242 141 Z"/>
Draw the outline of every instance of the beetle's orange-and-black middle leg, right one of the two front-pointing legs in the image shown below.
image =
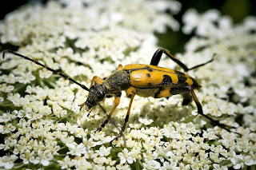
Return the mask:
<path fill-rule="evenodd" d="M 129 108 L 128 108 L 127 113 L 126 113 L 125 123 L 122 126 L 121 132 L 119 132 L 118 136 L 116 136 L 113 140 L 111 140 L 110 143 L 112 143 L 114 140 L 118 140 L 118 138 L 122 135 L 122 132 L 124 132 L 124 130 L 126 129 L 126 123 L 129 120 L 130 108 L 131 108 L 131 104 L 134 101 L 135 94 L 136 94 L 136 89 L 134 87 L 130 87 L 129 89 L 126 90 L 127 97 L 130 97 L 130 104 L 129 104 Z"/>

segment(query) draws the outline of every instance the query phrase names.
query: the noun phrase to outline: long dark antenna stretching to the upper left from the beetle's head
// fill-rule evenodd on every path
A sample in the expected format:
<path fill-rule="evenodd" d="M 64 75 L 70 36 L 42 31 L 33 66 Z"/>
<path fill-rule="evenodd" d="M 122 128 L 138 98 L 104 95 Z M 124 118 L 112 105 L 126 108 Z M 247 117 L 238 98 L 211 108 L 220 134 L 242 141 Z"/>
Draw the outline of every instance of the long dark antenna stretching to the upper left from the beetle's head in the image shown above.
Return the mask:
<path fill-rule="evenodd" d="M 74 82 L 75 84 L 77 84 L 77 85 L 79 85 L 80 87 L 82 87 L 82 89 L 85 89 L 86 91 L 90 91 L 90 89 L 88 89 L 88 88 L 86 87 L 86 85 L 82 85 L 81 83 L 78 83 L 78 81 L 74 81 L 72 78 L 66 76 L 65 74 L 63 74 L 63 73 L 61 73 L 61 72 L 58 72 L 58 71 L 56 71 L 56 70 L 54 70 L 54 69 L 50 69 L 50 68 L 47 67 L 46 65 L 42 65 L 40 62 L 35 61 L 35 60 L 31 59 L 30 57 L 23 56 L 23 55 L 20 54 L 20 53 L 15 53 L 14 51 L 12 51 L 12 50 L 10 50 L 10 49 L 6 49 L 6 50 L 4 50 L 4 51 L 2 52 L 2 58 L 5 58 L 5 53 L 6 53 L 6 52 L 8 52 L 8 53 L 13 53 L 14 55 L 16 55 L 16 56 L 18 56 L 18 57 L 22 57 L 22 58 L 24 58 L 24 59 L 26 59 L 26 60 L 32 61 L 32 62 L 34 62 L 35 64 L 40 65 L 40 66 L 42 66 L 42 67 L 48 69 L 49 71 L 51 71 L 51 72 L 53 72 L 53 73 L 57 73 L 57 74 L 60 75 L 61 77 L 66 78 L 66 80 L 69 80 L 69 81 Z"/>

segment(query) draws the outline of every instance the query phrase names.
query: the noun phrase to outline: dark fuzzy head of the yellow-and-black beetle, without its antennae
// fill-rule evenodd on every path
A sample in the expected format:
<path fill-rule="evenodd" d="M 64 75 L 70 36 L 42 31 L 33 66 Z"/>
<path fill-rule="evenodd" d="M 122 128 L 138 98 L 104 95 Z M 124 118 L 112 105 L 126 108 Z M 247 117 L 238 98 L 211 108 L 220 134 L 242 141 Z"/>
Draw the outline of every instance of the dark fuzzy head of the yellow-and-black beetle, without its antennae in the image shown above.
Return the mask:
<path fill-rule="evenodd" d="M 86 100 L 86 110 L 89 111 L 95 105 L 98 105 L 99 101 L 102 101 L 106 96 L 106 87 L 105 85 L 98 85 L 94 82 L 94 85 L 91 86 L 88 98 Z"/>

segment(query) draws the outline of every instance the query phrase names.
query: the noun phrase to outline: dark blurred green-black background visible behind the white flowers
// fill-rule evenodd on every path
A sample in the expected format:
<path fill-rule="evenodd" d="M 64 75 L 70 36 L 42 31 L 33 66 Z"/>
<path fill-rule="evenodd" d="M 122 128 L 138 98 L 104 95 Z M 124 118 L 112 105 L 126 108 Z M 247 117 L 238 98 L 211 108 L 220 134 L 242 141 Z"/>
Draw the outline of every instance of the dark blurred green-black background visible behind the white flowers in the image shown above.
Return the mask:
<path fill-rule="evenodd" d="M 0 10 L 0 20 L 2 20 L 6 14 L 28 2 L 46 3 L 47 0 L 5 1 L 5 5 L 2 4 Z M 223 15 L 230 15 L 231 18 L 233 18 L 234 23 L 242 22 L 243 18 L 246 18 L 246 16 L 249 15 L 256 16 L 256 0 L 181 0 L 179 2 L 182 3 L 182 10 L 178 13 L 178 15 L 175 15 L 174 18 L 181 23 L 181 27 L 182 15 L 190 8 L 198 10 L 199 13 L 203 13 L 209 9 L 217 9 Z M 193 34 L 184 35 L 181 31 L 173 32 L 170 29 L 167 30 L 166 34 L 156 35 L 159 38 L 158 45 L 162 46 L 163 48 L 170 49 L 171 53 L 182 53 L 184 51 L 184 44 L 193 36 Z"/>

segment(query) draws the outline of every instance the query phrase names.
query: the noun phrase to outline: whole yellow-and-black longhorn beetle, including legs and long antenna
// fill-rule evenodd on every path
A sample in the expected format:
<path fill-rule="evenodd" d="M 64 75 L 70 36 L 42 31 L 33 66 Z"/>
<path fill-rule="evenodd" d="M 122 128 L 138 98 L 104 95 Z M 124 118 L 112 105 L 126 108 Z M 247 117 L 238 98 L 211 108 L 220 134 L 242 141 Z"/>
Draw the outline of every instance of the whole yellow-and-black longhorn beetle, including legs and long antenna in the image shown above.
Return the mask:
<path fill-rule="evenodd" d="M 120 137 L 122 135 L 122 132 L 125 130 L 126 123 L 130 116 L 130 108 L 136 94 L 141 97 L 154 98 L 170 97 L 175 94 L 181 94 L 183 97 L 182 105 L 188 105 L 192 101 L 192 99 L 194 99 L 194 102 L 198 107 L 198 114 L 214 122 L 215 125 L 226 129 L 226 131 L 228 132 L 231 132 L 230 129 L 225 127 L 225 125 L 218 123 L 218 121 L 214 121 L 212 118 L 208 117 L 202 112 L 202 105 L 200 104 L 200 102 L 198 101 L 198 97 L 194 93 L 194 89 L 200 89 L 201 85 L 199 85 L 193 77 L 190 77 L 186 73 L 175 71 L 173 69 L 158 67 L 158 63 L 162 57 L 162 53 L 165 53 L 167 57 L 170 57 L 172 61 L 176 62 L 179 66 L 181 66 L 185 72 L 188 72 L 191 69 L 196 69 L 202 65 L 206 65 L 207 63 L 214 61 L 214 55 L 210 59 L 210 61 L 206 61 L 205 63 L 196 65 L 188 69 L 186 65 L 182 63 L 182 61 L 179 61 L 169 51 L 167 51 L 166 49 L 158 49 L 154 53 L 150 61 L 150 65 L 118 65 L 118 70 L 114 73 L 111 73 L 109 77 L 106 77 L 106 79 L 94 76 L 90 83 L 89 89 L 86 87 L 86 85 L 82 85 L 78 83 L 78 81 L 74 81 L 72 78 L 67 77 L 65 74 L 57 72 L 54 69 L 50 69 L 46 65 L 42 65 L 41 63 L 39 63 L 38 61 L 34 61 L 30 57 L 15 53 L 10 49 L 6 49 L 5 51 L 3 51 L 2 57 L 4 57 L 6 52 L 13 53 L 16 56 L 23 57 L 29 61 L 33 61 L 35 64 L 41 65 L 42 67 L 50 70 L 51 72 L 57 73 L 58 75 L 65 77 L 67 80 L 74 82 L 75 84 L 81 86 L 82 89 L 88 91 L 89 96 L 86 102 L 80 105 L 81 109 L 85 105 L 86 110 L 91 111 L 93 107 L 95 105 L 98 105 L 98 102 L 102 101 L 105 97 L 114 96 L 113 109 L 111 109 L 106 121 L 104 121 L 102 125 L 100 125 L 96 129 L 95 132 L 101 131 L 102 128 L 104 128 L 105 125 L 108 123 L 110 117 L 114 113 L 114 110 L 119 105 L 122 90 L 125 90 L 126 96 L 130 97 L 130 104 L 126 113 L 125 123 L 122 126 L 122 130 L 113 140 L 118 140 L 118 137 Z M 235 133 L 239 134 L 238 132 Z M 111 140 L 110 143 L 113 140 Z"/>

